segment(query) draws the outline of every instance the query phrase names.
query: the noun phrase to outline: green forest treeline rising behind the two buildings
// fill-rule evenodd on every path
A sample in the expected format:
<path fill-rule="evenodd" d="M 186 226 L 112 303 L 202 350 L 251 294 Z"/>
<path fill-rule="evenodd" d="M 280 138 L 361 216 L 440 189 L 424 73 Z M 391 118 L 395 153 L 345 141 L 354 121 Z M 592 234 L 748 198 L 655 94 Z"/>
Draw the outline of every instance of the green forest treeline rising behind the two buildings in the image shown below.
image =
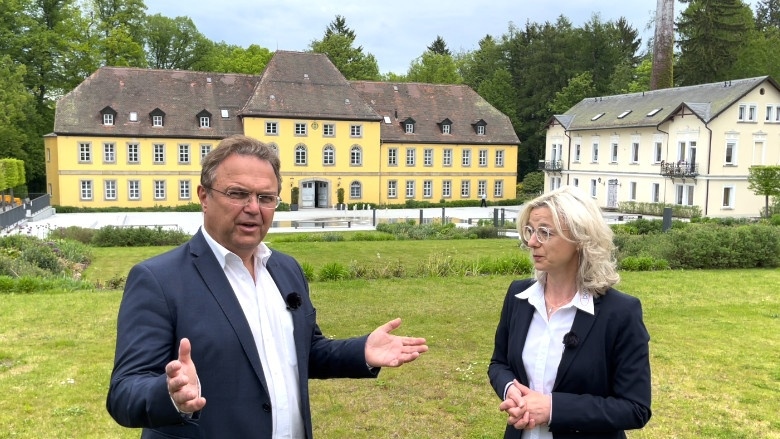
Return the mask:
<path fill-rule="evenodd" d="M 780 0 L 681 0 L 674 20 L 675 86 L 770 75 L 780 78 Z M 642 24 L 644 26 L 645 24 Z M 453 53 L 437 37 L 409 54 L 406 72 L 380 73 L 337 15 L 307 48 L 325 53 L 350 80 L 463 83 L 512 120 L 522 145 L 518 181 L 543 157 L 544 126 L 585 97 L 645 91 L 652 41 L 624 18 L 594 14 L 574 26 L 511 22 L 476 49 Z M 21 159 L 26 195 L 45 192 L 43 136 L 57 99 L 101 66 L 259 74 L 273 52 L 216 42 L 186 16 L 148 15 L 143 0 L 0 0 L 0 158 Z"/>

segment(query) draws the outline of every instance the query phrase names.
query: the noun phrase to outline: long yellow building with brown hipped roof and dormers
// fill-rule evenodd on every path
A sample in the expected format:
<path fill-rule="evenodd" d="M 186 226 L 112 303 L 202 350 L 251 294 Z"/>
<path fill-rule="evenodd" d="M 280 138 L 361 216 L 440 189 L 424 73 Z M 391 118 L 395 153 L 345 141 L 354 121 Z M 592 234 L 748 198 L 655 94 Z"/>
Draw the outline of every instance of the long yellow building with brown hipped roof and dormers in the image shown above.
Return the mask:
<path fill-rule="evenodd" d="M 302 208 L 514 198 L 511 122 L 462 85 L 347 81 L 321 54 L 276 52 L 260 76 L 103 67 L 57 104 L 52 204 L 197 202 L 202 157 L 246 134 L 281 159 Z"/>

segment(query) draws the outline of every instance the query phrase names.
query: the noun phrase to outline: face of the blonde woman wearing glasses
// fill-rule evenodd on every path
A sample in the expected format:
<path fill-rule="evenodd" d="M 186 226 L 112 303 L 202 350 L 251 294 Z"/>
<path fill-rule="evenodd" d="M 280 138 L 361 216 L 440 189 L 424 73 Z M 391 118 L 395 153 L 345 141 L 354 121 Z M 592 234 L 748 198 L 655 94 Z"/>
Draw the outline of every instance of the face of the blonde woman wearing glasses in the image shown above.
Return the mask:
<path fill-rule="evenodd" d="M 563 225 L 562 225 L 563 226 Z M 568 230 L 555 228 L 552 212 L 548 207 L 537 207 L 531 210 L 528 218 L 528 247 L 531 249 L 534 267 L 544 271 L 548 276 L 576 277 L 579 265 L 577 244 L 569 242 L 561 236 L 570 236 Z M 549 231 L 549 237 L 547 237 Z M 542 236 L 541 242 L 539 236 Z"/>

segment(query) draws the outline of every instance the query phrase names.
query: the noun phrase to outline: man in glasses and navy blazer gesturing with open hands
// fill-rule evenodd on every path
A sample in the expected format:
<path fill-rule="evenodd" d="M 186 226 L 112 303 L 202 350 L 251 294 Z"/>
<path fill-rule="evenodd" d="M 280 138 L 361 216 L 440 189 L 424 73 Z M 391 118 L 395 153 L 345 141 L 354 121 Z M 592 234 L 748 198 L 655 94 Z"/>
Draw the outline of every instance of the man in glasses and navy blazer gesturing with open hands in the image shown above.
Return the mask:
<path fill-rule="evenodd" d="M 309 378 L 375 377 L 425 339 L 392 320 L 330 340 L 300 265 L 262 241 L 279 204 L 276 153 L 244 136 L 203 160 L 203 227 L 130 270 L 107 409 L 142 438 L 311 438 Z M 197 367 L 197 369 L 196 369 Z"/>

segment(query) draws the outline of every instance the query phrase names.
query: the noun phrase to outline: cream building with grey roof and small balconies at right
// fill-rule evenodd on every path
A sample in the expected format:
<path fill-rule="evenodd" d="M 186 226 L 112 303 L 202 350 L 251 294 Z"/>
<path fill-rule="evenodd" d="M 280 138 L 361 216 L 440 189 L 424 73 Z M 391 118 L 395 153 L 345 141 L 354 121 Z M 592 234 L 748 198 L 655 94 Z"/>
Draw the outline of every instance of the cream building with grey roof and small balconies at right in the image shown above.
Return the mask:
<path fill-rule="evenodd" d="M 757 217 L 751 166 L 780 164 L 780 87 L 768 76 L 583 99 L 547 129 L 545 190 Z"/>

